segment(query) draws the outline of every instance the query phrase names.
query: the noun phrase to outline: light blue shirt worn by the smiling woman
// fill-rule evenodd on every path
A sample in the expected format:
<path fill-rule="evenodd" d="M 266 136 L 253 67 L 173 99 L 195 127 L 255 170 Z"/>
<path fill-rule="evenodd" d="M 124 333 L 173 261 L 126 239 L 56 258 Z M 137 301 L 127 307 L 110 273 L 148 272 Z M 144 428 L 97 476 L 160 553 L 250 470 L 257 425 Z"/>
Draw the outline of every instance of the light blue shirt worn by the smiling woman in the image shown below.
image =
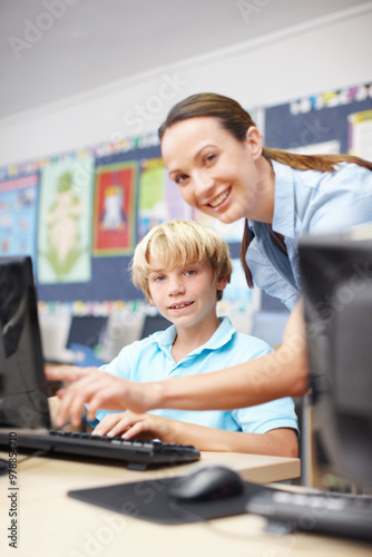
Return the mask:
<path fill-rule="evenodd" d="M 290 310 L 301 297 L 297 241 L 309 234 L 344 233 L 372 222 L 372 172 L 342 163 L 334 173 L 295 170 L 271 160 L 275 173 L 273 231 L 285 237 L 288 257 L 272 243 L 264 223 L 246 254 L 254 283 Z"/>

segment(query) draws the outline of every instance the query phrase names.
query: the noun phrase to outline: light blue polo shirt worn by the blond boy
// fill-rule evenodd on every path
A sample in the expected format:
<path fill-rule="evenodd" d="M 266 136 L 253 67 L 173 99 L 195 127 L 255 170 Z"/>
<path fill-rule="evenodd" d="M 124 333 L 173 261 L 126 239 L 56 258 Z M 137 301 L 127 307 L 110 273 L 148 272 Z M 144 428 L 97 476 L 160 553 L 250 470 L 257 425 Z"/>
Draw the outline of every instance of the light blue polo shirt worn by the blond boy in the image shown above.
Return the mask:
<path fill-rule="evenodd" d="M 266 342 L 236 332 L 228 317 L 219 321 L 219 328 L 208 342 L 177 363 L 172 356 L 176 338 L 176 328 L 172 325 L 166 331 L 156 332 L 125 346 L 115 360 L 101 369 L 131 381 L 163 381 L 222 370 L 272 352 Z M 270 381 L 264 375 L 264 370 L 263 380 Z M 108 412 L 99 410 L 97 419 L 101 420 L 106 413 Z M 272 429 L 293 428 L 298 432 L 294 403 L 290 398 L 233 411 L 160 409 L 151 413 L 227 431 L 265 433 Z"/>

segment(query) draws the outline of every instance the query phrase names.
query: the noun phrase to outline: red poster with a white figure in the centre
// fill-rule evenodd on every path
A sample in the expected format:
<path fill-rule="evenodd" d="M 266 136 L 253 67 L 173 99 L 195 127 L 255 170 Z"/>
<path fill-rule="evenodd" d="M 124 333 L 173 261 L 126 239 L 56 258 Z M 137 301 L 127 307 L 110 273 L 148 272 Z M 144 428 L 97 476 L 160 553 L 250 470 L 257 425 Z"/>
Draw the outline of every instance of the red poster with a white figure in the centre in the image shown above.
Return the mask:
<path fill-rule="evenodd" d="M 137 175 L 136 162 L 97 167 L 94 255 L 128 255 L 134 251 Z"/>

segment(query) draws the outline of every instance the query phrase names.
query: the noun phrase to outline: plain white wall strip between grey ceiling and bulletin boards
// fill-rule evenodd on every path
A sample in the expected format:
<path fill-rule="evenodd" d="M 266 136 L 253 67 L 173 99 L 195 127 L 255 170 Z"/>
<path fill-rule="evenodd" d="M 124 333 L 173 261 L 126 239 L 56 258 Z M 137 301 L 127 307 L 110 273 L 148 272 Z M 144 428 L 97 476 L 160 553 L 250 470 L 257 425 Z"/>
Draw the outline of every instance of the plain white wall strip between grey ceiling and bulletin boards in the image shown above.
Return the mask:
<path fill-rule="evenodd" d="M 276 105 L 372 78 L 372 2 L 0 120 L 0 166 L 157 128 L 198 91 Z"/>

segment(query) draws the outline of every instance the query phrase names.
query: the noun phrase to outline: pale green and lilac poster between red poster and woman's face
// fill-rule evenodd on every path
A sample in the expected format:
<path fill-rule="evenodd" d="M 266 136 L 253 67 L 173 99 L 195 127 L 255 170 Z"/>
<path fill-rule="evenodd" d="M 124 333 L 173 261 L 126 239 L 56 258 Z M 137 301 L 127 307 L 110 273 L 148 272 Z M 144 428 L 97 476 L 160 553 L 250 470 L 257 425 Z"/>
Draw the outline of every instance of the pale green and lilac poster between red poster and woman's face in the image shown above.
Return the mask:
<path fill-rule="evenodd" d="M 157 224 L 192 218 L 190 207 L 170 180 L 161 158 L 141 160 L 138 199 L 138 240 Z"/>

